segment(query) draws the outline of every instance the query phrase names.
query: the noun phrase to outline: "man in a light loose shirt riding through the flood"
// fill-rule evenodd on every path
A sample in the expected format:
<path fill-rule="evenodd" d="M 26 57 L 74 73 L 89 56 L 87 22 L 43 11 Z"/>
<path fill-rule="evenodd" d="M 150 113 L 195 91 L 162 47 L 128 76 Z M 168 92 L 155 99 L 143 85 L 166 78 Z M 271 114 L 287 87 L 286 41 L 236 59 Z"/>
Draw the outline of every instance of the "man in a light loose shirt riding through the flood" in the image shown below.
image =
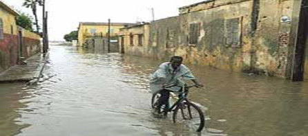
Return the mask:
<path fill-rule="evenodd" d="M 163 89 L 168 84 L 177 84 L 175 87 L 169 87 L 168 90 L 180 91 L 181 87 L 185 84 L 183 80 L 192 80 L 196 87 L 203 87 L 193 76 L 193 73 L 188 67 L 182 65 L 183 58 L 181 56 L 171 57 L 170 62 L 162 63 L 160 67 L 151 75 L 150 89 L 152 93 L 159 92 L 161 97 L 159 98 L 157 109 L 160 109 L 162 105 L 168 105 L 169 103 L 169 91 Z M 158 110 L 160 112 L 160 110 Z"/>

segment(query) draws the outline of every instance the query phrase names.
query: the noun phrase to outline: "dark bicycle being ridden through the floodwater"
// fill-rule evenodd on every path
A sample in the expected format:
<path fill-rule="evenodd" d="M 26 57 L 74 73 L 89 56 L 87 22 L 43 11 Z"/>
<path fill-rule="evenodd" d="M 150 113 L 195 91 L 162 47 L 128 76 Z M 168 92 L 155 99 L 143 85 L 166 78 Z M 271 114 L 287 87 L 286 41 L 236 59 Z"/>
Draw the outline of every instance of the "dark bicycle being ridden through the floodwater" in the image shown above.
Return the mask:
<path fill-rule="evenodd" d="M 169 87 L 175 87 L 177 85 L 171 84 L 164 89 L 167 89 Z M 180 87 L 180 86 L 177 86 Z M 160 92 L 157 92 L 153 94 L 152 100 L 151 100 L 151 106 L 153 109 L 158 110 L 158 112 L 162 112 L 164 115 L 167 115 L 167 113 L 173 111 L 173 123 L 192 123 L 193 124 L 193 129 L 194 131 L 200 132 L 204 128 L 204 115 L 202 113 L 202 110 L 193 102 L 191 102 L 188 98 L 187 95 L 189 93 L 189 89 L 191 87 L 196 87 L 195 85 L 192 86 L 184 86 L 182 87 L 182 91 L 177 92 L 177 91 L 170 91 L 173 93 L 179 93 L 178 100 L 174 102 L 172 106 L 169 106 L 169 104 L 164 104 L 160 108 L 157 107 L 158 102 L 157 100 L 161 97 Z M 197 122 L 195 122 L 197 121 Z"/>

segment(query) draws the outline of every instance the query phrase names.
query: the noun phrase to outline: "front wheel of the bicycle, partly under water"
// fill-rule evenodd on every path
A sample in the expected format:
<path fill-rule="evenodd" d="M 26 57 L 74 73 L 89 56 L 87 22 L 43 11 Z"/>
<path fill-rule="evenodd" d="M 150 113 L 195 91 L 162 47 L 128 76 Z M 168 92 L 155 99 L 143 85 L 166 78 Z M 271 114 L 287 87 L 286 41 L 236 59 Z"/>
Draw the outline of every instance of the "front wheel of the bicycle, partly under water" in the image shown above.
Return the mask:
<path fill-rule="evenodd" d="M 204 128 L 204 115 L 198 106 L 185 100 L 175 109 L 173 122 L 182 123 L 189 129 L 200 132 Z"/>

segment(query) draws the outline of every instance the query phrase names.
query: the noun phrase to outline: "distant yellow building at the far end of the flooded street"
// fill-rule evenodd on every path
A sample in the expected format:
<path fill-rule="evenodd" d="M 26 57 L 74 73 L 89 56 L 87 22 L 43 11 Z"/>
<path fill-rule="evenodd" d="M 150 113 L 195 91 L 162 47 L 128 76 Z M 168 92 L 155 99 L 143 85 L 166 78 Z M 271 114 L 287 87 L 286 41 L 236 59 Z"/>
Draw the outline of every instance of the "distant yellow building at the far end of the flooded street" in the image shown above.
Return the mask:
<path fill-rule="evenodd" d="M 133 23 L 110 23 L 110 36 L 117 36 L 119 29 L 135 25 Z M 108 23 L 81 22 L 78 27 L 78 45 L 83 46 L 86 38 L 95 36 L 106 37 Z"/>

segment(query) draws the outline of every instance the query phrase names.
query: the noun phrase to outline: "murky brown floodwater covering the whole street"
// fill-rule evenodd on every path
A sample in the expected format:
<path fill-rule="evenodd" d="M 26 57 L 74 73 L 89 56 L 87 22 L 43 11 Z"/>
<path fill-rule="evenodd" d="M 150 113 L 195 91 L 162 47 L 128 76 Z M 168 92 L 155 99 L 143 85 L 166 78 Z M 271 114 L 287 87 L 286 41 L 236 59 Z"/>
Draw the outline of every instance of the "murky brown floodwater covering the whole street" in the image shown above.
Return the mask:
<path fill-rule="evenodd" d="M 0 84 L 1 136 L 307 136 L 308 84 L 188 65 L 205 84 L 202 133 L 151 114 L 148 75 L 159 60 L 51 46 L 37 85 Z"/>

